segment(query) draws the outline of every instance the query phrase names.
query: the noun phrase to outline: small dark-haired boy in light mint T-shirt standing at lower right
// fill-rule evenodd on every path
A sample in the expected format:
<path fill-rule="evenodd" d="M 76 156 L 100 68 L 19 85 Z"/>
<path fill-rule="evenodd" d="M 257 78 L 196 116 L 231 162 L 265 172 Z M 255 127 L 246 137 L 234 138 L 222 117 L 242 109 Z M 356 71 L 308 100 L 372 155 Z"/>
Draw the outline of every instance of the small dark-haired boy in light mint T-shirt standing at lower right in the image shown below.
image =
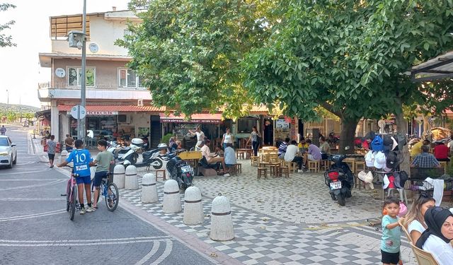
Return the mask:
<path fill-rule="evenodd" d="M 396 215 L 399 213 L 399 199 L 387 197 L 384 200 L 384 211 L 386 215 L 382 217 L 381 261 L 383 265 L 398 264 L 401 228 Z"/>

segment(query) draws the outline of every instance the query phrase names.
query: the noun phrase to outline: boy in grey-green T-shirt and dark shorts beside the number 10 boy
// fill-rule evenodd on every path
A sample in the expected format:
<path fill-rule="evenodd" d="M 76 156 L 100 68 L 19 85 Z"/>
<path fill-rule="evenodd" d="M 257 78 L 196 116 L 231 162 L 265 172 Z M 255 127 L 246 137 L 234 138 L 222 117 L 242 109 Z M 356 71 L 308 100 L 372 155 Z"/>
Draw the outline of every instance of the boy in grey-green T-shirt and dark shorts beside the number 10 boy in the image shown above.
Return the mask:
<path fill-rule="evenodd" d="M 91 165 L 98 165 L 96 167 L 96 173 L 94 175 L 94 182 L 93 186 L 96 188 L 94 190 L 94 201 L 93 201 L 93 207 L 95 209 L 98 208 L 98 199 L 99 199 L 99 191 L 101 187 L 101 182 L 102 179 L 107 177 L 107 174 L 110 169 L 110 165 L 115 165 L 115 158 L 113 157 L 113 153 L 110 153 L 107 149 L 107 141 L 105 140 L 99 140 L 98 141 L 98 150 L 100 153 L 96 155 L 96 159 L 93 160 Z"/>

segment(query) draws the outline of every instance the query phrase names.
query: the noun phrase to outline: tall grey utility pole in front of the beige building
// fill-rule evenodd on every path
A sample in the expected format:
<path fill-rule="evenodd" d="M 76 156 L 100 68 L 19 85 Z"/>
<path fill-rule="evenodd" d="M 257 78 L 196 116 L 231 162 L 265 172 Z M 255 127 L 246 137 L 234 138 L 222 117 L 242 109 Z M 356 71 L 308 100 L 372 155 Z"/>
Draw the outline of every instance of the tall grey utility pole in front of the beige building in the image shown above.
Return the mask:
<path fill-rule="evenodd" d="M 83 22 L 82 22 L 82 30 L 84 35 L 82 37 L 82 74 L 81 74 L 81 89 L 80 89 L 80 105 L 85 107 L 86 105 L 86 0 L 84 0 L 84 14 L 83 14 Z M 79 117 L 80 108 L 79 108 Z M 78 133 L 77 138 L 81 139 L 82 141 L 85 139 L 86 136 L 86 124 L 85 124 L 85 117 L 83 119 L 79 119 L 78 124 Z"/>

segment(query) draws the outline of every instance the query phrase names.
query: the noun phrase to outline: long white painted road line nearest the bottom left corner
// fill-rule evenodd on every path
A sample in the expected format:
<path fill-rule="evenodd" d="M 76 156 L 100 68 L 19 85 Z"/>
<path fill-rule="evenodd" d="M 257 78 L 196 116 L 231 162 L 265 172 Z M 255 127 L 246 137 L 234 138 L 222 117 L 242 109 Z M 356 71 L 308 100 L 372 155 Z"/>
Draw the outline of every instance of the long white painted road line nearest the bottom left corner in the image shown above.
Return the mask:
<path fill-rule="evenodd" d="M 96 245 L 122 245 L 135 244 L 143 242 L 170 242 L 169 237 L 130 237 L 117 239 L 101 239 L 101 240 L 46 240 L 46 241 L 28 241 L 28 240 L 0 240 L 1 247 L 66 247 L 66 246 L 96 246 Z M 160 244 L 159 244 L 160 245 Z M 170 250 L 171 251 L 171 250 Z M 166 251 L 168 252 L 168 251 Z M 166 254 L 164 252 L 164 254 Z M 164 254 L 162 256 L 164 256 Z M 162 257 L 161 256 L 161 257 Z M 168 257 L 168 255 L 166 255 Z M 165 257 L 165 258 L 166 258 Z"/>

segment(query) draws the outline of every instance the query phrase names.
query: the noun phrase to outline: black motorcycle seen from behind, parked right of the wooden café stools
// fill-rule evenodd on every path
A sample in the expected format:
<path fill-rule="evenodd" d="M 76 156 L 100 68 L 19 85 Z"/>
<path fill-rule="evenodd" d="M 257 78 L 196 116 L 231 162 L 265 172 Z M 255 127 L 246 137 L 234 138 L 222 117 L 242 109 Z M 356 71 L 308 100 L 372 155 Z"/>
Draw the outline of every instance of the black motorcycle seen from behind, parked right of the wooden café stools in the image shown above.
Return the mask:
<path fill-rule="evenodd" d="M 330 189 L 329 194 L 340 206 L 345 206 L 345 199 L 352 196 L 351 189 L 354 185 L 354 175 L 348 164 L 343 162 L 346 157 L 347 155 L 331 155 L 328 160 L 333 164 L 324 172 L 324 182 Z"/>

